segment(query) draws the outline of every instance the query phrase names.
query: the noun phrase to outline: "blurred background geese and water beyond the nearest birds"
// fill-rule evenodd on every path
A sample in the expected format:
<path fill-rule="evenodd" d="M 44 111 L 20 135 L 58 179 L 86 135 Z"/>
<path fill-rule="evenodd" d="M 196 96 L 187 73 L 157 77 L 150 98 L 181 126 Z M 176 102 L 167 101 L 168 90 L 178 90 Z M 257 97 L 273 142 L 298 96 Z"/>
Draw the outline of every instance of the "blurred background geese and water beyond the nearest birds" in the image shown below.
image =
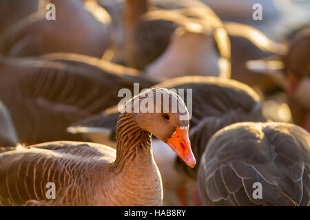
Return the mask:
<path fill-rule="evenodd" d="M 19 142 L 87 140 L 65 129 L 121 88 L 216 76 L 253 88 L 268 120 L 310 131 L 309 12 L 309 0 L 0 0 L 0 100 Z"/>

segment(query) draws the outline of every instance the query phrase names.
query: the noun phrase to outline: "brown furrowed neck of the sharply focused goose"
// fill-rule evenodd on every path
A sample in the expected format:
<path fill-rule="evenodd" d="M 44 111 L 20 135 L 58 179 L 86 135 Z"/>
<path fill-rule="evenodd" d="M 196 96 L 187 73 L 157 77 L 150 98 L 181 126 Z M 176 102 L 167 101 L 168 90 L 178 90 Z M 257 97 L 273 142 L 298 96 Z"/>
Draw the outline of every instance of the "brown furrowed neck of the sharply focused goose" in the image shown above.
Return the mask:
<path fill-rule="evenodd" d="M 152 134 L 138 126 L 134 120 L 134 113 L 122 113 L 118 118 L 116 129 L 116 159 L 114 162 L 116 173 L 121 172 L 125 164 L 134 159 L 136 153 L 143 152 L 145 155 L 151 155 L 151 146 Z"/>

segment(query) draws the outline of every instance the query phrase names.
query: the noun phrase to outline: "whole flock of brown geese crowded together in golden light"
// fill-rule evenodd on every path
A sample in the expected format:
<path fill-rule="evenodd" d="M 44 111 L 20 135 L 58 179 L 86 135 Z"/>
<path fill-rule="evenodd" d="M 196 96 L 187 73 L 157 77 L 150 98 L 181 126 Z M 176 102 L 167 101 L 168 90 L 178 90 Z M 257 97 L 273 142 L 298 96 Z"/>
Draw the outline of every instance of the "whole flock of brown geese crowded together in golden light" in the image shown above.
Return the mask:
<path fill-rule="evenodd" d="M 275 43 L 198 0 L 28 1 L 0 3 L 1 206 L 187 206 L 188 184 L 197 206 L 310 205 L 309 24 Z M 161 112 L 118 111 L 134 83 L 125 109 Z M 262 113 L 276 89 L 294 124 Z"/>

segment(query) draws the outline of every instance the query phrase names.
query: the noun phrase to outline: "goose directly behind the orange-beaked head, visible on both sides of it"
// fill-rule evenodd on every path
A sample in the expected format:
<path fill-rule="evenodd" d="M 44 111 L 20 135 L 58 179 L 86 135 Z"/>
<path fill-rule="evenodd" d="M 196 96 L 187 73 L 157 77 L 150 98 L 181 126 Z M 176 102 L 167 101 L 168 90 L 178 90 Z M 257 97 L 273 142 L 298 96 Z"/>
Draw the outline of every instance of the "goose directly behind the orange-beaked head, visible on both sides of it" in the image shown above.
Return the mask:
<path fill-rule="evenodd" d="M 211 76 L 183 76 L 165 80 L 154 87 L 167 89 L 185 89 L 184 98 L 187 103 L 187 89 L 192 89 L 192 109 L 189 104 L 191 131 L 189 139 L 196 157 L 197 166 L 200 157 L 211 135 L 219 129 L 236 122 L 265 122 L 262 115 L 262 101 L 256 92 L 249 86 L 236 80 L 216 78 Z M 179 92 L 183 92 L 180 90 Z M 190 92 L 190 91 L 189 91 Z M 110 144 L 115 147 L 116 120 L 118 107 L 111 107 L 101 115 L 92 115 L 68 128 L 70 133 L 83 133 L 92 142 Z M 175 190 L 182 206 L 188 205 L 184 198 L 186 184 L 196 186 L 197 168 L 187 169 L 166 144 L 153 140 L 154 159 L 161 171 L 163 187 Z M 183 192 L 183 193 L 181 193 Z M 196 192 L 195 192 L 196 194 Z M 198 199 L 195 201 L 198 204 Z M 168 203 L 170 206 L 176 203 Z"/>

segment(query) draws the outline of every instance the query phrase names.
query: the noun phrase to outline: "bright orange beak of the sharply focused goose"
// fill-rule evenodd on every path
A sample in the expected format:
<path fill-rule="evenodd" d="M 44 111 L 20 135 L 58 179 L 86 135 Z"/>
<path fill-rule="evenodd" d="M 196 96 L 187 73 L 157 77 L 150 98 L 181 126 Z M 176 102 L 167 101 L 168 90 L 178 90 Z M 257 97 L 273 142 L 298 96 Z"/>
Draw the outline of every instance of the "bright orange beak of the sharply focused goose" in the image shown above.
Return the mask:
<path fill-rule="evenodd" d="M 188 129 L 176 128 L 176 132 L 167 140 L 166 144 L 172 148 L 176 155 L 183 159 L 187 166 L 192 168 L 195 166 L 196 159 L 192 152 L 191 142 L 188 138 Z"/>

